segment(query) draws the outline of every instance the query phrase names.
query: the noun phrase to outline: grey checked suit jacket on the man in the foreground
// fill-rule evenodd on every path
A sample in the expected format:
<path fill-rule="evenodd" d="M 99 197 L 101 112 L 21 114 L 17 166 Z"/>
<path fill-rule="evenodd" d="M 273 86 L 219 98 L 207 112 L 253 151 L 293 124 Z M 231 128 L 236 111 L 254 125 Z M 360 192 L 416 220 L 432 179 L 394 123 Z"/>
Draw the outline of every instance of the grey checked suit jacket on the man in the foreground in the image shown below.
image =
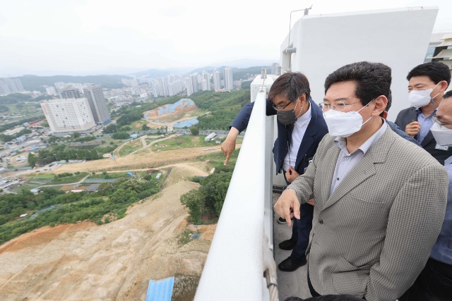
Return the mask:
<path fill-rule="evenodd" d="M 329 196 L 340 150 L 326 135 L 312 164 L 287 189 L 314 197 L 307 254 L 321 295 L 396 300 L 414 283 L 446 210 L 448 175 L 424 149 L 387 128 Z"/>

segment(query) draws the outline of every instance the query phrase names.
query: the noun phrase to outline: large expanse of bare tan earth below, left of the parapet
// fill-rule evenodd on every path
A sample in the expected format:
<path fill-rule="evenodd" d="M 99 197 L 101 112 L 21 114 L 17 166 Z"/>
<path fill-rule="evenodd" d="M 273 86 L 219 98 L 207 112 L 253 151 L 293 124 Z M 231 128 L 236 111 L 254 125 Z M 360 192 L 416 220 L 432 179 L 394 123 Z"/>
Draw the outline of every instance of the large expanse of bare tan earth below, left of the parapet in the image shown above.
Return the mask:
<path fill-rule="evenodd" d="M 129 208 L 124 219 L 102 226 L 44 227 L 1 245 L 0 300 L 144 300 L 150 279 L 200 276 L 216 225 L 199 226 L 201 237 L 185 245 L 178 238 L 184 229 L 193 230 L 179 198 L 198 187 L 184 179 L 207 176 L 206 164 L 194 160 L 208 153 L 202 149 L 135 154 L 54 170 L 161 168 L 168 173 L 165 188 Z"/>

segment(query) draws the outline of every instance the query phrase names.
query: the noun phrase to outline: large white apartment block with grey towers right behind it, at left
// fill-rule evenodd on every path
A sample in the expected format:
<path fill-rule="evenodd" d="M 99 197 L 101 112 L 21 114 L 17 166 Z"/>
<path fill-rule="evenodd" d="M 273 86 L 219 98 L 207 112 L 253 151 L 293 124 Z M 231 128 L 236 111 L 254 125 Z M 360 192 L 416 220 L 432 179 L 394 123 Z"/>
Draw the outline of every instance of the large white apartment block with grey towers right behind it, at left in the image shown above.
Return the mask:
<path fill-rule="evenodd" d="M 57 87 L 55 92 L 59 94 L 59 99 L 40 102 L 54 135 L 71 135 L 73 132 L 90 133 L 96 125 L 105 125 L 111 121 L 107 100 L 101 86 L 60 84 L 55 85 Z M 47 90 L 47 93 L 49 92 L 52 91 Z"/>

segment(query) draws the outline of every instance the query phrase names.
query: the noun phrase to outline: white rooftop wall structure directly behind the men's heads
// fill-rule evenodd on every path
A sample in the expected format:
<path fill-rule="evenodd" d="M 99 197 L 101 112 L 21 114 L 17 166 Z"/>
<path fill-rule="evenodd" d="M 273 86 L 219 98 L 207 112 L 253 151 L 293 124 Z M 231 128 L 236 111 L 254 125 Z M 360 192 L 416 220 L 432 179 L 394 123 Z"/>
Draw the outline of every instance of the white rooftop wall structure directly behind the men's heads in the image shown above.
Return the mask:
<path fill-rule="evenodd" d="M 281 44 L 281 67 L 307 75 L 314 102 L 324 96 L 328 74 L 357 61 L 385 63 L 392 68 L 394 121 L 408 103 L 408 72 L 424 62 L 438 7 L 303 16 Z M 292 46 L 293 45 L 293 46 Z M 288 47 L 295 54 L 285 54 Z"/>

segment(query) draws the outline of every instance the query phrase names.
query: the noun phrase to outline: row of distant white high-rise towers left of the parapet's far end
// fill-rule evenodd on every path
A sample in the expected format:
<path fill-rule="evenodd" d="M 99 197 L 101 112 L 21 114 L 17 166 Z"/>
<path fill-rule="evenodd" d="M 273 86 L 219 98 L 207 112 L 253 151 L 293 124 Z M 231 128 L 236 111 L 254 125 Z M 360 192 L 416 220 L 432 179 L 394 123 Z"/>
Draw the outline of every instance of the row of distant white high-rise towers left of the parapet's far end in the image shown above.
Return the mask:
<path fill-rule="evenodd" d="M 199 91 L 233 90 L 234 80 L 232 69 L 225 68 L 224 80 L 220 81 L 220 70 L 214 69 L 212 73 L 204 70 L 202 73 L 193 73 L 185 78 L 177 75 L 168 75 L 150 81 L 155 97 L 172 97 L 186 92 L 187 96 Z"/>

